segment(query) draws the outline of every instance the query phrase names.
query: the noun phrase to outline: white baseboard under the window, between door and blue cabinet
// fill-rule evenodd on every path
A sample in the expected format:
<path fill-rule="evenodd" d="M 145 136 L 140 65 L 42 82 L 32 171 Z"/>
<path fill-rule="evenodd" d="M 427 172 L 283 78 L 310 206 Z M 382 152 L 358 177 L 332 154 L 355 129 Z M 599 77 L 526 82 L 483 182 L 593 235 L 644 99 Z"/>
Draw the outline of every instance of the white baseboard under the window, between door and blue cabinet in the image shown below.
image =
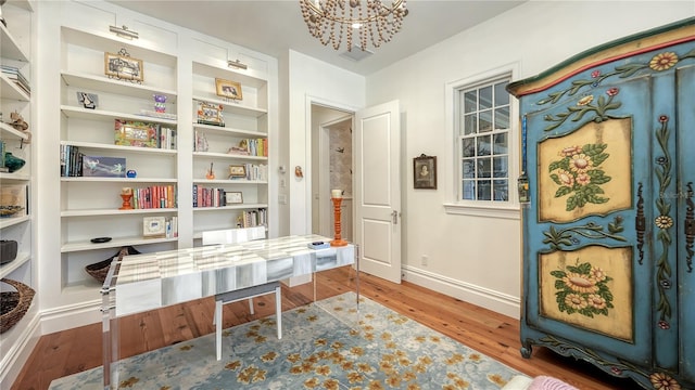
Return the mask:
<path fill-rule="evenodd" d="M 403 268 L 405 280 L 418 286 L 510 316 L 521 317 L 520 299 L 480 286 L 462 283 L 415 268 Z"/>

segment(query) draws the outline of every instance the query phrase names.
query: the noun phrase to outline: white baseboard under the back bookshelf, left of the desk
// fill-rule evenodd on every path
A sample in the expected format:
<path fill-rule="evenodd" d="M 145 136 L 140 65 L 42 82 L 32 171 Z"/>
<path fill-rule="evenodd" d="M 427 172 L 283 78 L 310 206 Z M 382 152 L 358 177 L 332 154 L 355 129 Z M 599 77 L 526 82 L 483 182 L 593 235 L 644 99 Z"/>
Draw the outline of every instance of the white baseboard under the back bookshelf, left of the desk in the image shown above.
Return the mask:
<path fill-rule="evenodd" d="M 53 308 L 41 312 L 43 335 L 101 322 L 101 300 Z"/>

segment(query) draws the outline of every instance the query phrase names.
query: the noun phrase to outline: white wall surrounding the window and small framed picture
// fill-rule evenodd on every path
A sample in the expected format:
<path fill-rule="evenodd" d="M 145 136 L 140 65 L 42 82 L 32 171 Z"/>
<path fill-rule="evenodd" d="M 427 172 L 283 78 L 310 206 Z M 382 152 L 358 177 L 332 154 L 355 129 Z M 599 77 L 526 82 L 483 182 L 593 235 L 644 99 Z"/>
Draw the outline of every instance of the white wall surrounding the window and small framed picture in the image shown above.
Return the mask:
<path fill-rule="evenodd" d="M 694 1 L 530 1 L 367 77 L 368 105 L 397 99 L 404 113 L 406 278 L 519 315 L 520 221 L 444 211 L 455 191 L 444 181 L 456 174 L 446 83 L 508 65 L 518 69 L 515 79 L 530 77 L 595 46 L 693 15 Z M 404 28 L 415 27 L 406 20 Z M 409 161 L 421 153 L 445 161 L 438 164 L 437 191 L 413 190 Z"/>

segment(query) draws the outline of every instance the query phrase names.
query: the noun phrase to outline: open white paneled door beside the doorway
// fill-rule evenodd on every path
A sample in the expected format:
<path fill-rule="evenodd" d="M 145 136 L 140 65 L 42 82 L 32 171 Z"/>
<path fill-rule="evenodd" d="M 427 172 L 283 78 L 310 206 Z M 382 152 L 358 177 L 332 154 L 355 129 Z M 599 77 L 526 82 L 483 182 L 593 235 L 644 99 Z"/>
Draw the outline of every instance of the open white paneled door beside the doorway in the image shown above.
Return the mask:
<path fill-rule="evenodd" d="M 399 102 L 355 115 L 355 238 L 359 270 L 401 283 L 401 120 Z"/>

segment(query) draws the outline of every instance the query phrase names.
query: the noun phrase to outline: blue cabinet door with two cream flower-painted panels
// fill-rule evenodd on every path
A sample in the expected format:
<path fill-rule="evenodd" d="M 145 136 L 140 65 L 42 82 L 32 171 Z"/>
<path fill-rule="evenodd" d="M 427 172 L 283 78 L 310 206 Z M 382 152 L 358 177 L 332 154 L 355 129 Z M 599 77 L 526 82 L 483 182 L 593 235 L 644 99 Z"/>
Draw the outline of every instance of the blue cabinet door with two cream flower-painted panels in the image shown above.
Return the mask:
<path fill-rule="evenodd" d="M 570 88 L 572 80 L 556 90 Z M 652 78 L 604 83 L 528 115 L 531 204 L 525 218 L 530 327 L 649 364 Z M 549 93 L 554 93 L 551 91 Z M 549 94 L 548 93 L 548 94 Z M 619 324 L 619 326 L 616 326 Z M 522 339 L 527 337 L 523 335 Z M 553 336 L 542 342 L 556 342 Z"/>

